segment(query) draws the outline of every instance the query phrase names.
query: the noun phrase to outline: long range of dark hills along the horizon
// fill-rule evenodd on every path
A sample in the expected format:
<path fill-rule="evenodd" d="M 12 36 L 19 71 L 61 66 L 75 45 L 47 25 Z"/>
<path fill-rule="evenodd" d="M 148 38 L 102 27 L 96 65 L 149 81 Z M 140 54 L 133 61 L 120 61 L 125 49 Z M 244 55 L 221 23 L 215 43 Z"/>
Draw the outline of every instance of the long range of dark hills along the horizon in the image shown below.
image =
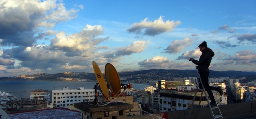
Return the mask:
<path fill-rule="evenodd" d="M 120 79 L 126 80 L 134 79 L 172 79 L 184 77 L 198 77 L 196 70 L 164 70 L 151 69 L 140 71 L 122 71 L 118 72 Z M 248 81 L 256 80 L 256 72 L 246 71 L 213 71 L 210 70 L 210 78 L 231 77 L 241 78 L 245 77 Z M 1 77 L 0 81 L 63 81 L 63 79 L 84 79 L 86 81 L 96 81 L 95 73 L 86 72 L 63 72 L 56 74 L 37 73 L 32 75 L 19 75 L 15 77 Z"/>

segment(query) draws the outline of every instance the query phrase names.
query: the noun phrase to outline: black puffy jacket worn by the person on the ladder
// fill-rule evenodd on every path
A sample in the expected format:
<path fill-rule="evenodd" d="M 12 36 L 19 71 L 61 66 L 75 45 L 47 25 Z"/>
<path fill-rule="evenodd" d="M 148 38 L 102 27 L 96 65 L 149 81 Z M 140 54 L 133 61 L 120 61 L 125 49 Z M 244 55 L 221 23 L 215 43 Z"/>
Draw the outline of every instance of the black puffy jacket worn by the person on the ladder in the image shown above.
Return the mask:
<path fill-rule="evenodd" d="M 206 48 L 202 51 L 202 55 L 200 56 L 199 61 L 192 61 L 194 64 L 198 65 L 198 73 L 210 72 L 208 67 L 210 66 L 213 56 L 214 52 L 212 49 Z"/>

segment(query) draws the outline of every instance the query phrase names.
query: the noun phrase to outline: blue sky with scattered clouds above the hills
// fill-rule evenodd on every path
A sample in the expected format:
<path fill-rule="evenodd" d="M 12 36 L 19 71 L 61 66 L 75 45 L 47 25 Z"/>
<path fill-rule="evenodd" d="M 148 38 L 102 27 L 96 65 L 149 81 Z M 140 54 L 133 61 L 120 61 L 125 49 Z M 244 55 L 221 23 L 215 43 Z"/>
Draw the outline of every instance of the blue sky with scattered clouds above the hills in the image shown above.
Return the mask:
<path fill-rule="evenodd" d="M 255 0 L 1 0 L 0 77 L 193 69 L 256 71 Z"/>

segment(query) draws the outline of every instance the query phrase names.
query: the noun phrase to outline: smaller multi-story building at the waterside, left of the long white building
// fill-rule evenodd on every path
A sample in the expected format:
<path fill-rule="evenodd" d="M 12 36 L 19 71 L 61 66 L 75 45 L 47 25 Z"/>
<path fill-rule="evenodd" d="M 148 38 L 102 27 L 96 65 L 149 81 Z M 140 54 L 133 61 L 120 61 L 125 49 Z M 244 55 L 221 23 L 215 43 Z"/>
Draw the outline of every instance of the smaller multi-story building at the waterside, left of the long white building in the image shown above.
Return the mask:
<path fill-rule="evenodd" d="M 30 93 L 30 100 L 49 100 L 49 91 L 43 89 L 35 89 Z"/>

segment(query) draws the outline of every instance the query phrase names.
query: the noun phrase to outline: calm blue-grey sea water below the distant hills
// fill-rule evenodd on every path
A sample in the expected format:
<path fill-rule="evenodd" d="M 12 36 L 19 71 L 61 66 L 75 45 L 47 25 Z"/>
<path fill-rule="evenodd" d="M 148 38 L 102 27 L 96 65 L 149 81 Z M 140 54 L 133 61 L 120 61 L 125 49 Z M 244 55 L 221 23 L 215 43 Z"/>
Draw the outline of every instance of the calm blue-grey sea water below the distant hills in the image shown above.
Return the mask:
<path fill-rule="evenodd" d="M 143 89 L 147 84 L 131 83 L 134 89 Z M 67 81 L 0 81 L 0 91 L 8 92 L 19 98 L 29 98 L 29 93 L 35 89 L 57 90 L 63 87 L 77 89 L 80 87 L 94 88 L 96 82 L 67 82 Z M 15 92 L 16 91 L 16 92 Z M 25 92 L 22 92 L 25 91 Z"/>

